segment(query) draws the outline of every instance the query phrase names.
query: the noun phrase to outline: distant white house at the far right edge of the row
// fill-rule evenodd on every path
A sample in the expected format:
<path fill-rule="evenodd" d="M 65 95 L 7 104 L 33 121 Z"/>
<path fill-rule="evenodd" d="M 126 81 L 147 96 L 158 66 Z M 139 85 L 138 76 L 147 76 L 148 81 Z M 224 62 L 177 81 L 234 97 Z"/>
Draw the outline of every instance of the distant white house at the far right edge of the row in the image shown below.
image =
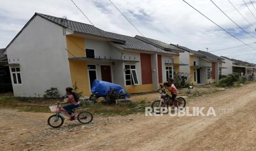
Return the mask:
<path fill-rule="evenodd" d="M 225 62 L 222 63 L 222 66 L 226 67 L 225 69 L 223 69 L 223 75 L 235 72 L 245 76 L 246 74 L 254 74 L 256 72 L 256 66 L 253 63 L 230 59 L 226 56 L 221 57 L 225 59 Z"/>

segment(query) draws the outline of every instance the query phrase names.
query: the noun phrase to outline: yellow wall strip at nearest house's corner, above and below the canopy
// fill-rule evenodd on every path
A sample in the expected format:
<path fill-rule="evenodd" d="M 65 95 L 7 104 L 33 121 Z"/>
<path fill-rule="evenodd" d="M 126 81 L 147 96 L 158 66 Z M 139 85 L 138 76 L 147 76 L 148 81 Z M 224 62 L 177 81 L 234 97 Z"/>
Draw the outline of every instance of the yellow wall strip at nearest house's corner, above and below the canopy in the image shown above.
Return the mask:
<path fill-rule="evenodd" d="M 75 57 L 85 57 L 85 39 L 74 36 L 67 36 L 67 49 Z M 67 52 L 68 53 L 68 52 Z M 68 53 L 68 57 L 74 57 Z M 84 96 L 90 95 L 89 78 L 86 61 L 70 60 L 69 69 L 72 86 L 77 83 L 78 92 L 83 92 Z"/>

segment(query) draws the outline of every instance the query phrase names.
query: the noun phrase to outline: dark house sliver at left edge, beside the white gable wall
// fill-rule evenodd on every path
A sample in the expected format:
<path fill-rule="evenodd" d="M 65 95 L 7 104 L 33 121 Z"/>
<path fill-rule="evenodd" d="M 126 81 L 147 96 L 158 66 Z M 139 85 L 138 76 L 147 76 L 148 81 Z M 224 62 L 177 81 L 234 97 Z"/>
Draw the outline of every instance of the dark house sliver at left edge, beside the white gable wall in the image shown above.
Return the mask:
<path fill-rule="evenodd" d="M 5 48 L 0 49 L 0 92 L 8 92 L 13 90 L 7 56 L 4 55 L 5 50 Z"/>

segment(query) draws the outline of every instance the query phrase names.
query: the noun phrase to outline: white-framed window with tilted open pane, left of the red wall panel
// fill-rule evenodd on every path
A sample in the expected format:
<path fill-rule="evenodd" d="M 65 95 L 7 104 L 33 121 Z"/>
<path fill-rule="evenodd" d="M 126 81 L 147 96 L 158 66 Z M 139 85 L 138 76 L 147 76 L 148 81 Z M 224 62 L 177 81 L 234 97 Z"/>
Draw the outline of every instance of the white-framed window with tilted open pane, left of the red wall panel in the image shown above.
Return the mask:
<path fill-rule="evenodd" d="M 124 69 L 126 72 L 126 85 L 138 85 L 139 80 L 135 65 L 125 65 Z"/>

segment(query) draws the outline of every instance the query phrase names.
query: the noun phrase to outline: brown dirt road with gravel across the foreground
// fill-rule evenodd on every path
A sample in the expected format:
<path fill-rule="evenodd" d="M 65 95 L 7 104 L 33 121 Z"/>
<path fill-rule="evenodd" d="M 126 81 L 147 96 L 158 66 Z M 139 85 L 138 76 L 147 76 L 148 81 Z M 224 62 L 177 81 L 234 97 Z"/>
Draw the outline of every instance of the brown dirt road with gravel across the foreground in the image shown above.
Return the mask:
<path fill-rule="evenodd" d="M 1 109 L 0 150 L 256 150 L 255 88 L 253 83 L 188 101 L 188 107 L 214 107 L 211 117 L 133 114 L 52 129 L 48 113 Z"/>

